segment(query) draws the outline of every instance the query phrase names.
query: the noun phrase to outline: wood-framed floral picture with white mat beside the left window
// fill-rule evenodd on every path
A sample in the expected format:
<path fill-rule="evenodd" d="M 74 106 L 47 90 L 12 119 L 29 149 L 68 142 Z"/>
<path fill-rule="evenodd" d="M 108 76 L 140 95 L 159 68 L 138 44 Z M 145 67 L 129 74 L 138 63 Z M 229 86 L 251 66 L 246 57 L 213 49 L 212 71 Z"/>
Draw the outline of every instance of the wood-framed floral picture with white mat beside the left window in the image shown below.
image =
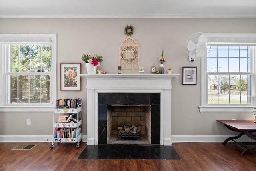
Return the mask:
<path fill-rule="evenodd" d="M 60 91 L 81 91 L 81 63 L 60 63 Z"/>

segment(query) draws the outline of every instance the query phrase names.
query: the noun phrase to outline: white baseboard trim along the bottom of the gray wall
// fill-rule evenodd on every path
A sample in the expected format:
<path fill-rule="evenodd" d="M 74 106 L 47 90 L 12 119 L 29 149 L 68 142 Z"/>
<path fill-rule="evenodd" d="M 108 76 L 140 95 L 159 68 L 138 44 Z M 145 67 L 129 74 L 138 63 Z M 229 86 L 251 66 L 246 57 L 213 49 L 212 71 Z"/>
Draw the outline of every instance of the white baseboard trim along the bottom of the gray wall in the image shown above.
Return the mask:
<path fill-rule="evenodd" d="M 172 135 L 172 143 L 180 142 L 223 142 L 235 135 Z M 83 142 L 87 142 L 87 135 L 83 135 Z M 45 141 L 47 139 L 47 141 Z M 255 142 L 243 135 L 237 142 Z M 0 142 L 52 142 L 52 135 L 0 135 Z"/>

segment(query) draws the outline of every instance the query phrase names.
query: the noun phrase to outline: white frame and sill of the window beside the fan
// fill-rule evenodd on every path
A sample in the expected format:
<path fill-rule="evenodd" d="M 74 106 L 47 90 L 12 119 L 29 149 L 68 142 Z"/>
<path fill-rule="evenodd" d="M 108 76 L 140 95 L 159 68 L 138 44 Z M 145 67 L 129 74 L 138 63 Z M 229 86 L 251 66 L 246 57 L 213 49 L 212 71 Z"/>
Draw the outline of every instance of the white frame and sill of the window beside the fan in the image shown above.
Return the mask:
<path fill-rule="evenodd" d="M 246 43 L 250 45 L 256 45 L 256 34 L 207 34 L 211 42 L 225 42 L 225 43 Z M 252 73 L 252 104 L 207 104 L 207 66 L 206 57 L 201 59 L 201 106 L 199 107 L 200 112 L 252 112 L 256 106 L 256 92 L 255 92 L 255 48 L 252 52 L 251 58 L 251 73 Z"/>

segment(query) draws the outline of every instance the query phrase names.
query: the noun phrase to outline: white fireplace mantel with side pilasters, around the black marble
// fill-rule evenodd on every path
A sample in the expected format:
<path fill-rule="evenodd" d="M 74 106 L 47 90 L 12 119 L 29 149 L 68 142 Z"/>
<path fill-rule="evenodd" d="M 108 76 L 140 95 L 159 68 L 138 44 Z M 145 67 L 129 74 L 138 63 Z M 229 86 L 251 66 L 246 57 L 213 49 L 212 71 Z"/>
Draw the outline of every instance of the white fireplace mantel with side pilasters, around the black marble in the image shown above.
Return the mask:
<path fill-rule="evenodd" d="M 87 145 L 98 144 L 98 93 L 160 93 L 160 144 L 172 145 L 172 78 L 180 74 L 80 74 L 87 79 Z"/>

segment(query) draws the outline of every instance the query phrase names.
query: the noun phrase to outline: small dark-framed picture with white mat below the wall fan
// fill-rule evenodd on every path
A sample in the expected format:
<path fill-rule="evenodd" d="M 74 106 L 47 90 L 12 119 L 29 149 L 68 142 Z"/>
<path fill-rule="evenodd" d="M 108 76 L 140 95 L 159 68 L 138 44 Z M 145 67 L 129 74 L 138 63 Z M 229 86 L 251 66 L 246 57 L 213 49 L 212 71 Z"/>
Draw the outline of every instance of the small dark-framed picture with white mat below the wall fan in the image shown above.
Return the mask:
<path fill-rule="evenodd" d="M 182 85 L 196 85 L 196 66 L 182 67 Z"/>

